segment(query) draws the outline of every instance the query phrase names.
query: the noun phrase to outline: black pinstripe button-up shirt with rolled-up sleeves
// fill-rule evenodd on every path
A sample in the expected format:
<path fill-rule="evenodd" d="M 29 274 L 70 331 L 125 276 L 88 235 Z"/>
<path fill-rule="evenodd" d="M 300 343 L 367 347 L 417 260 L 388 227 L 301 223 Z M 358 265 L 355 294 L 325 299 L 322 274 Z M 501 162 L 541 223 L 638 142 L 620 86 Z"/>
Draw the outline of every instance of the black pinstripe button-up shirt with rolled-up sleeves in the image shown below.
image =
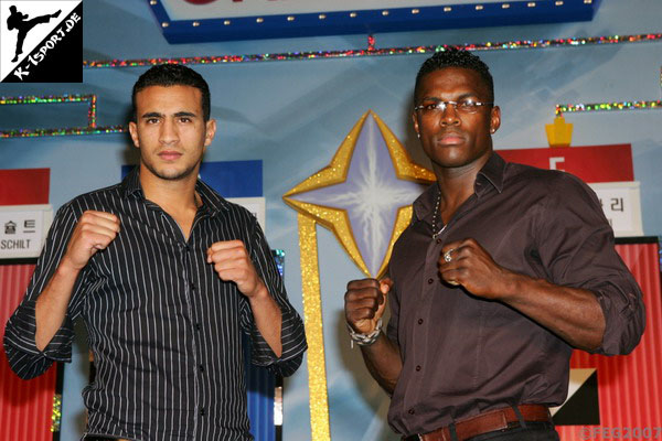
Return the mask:
<path fill-rule="evenodd" d="M 130 440 L 250 440 L 242 332 L 253 363 L 292 374 L 306 351 L 303 325 L 255 217 L 197 182 L 203 205 L 189 240 L 179 225 L 145 198 L 138 171 L 120 184 L 76 197 L 60 208 L 28 288 L 7 324 L 4 347 L 22 378 L 53 361 L 71 361 L 73 322 L 85 321 L 97 368 L 83 391 L 89 434 Z M 121 230 L 78 277 L 62 327 L 40 352 L 34 304 L 55 271 L 77 219 L 87 209 L 114 213 Z M 243 240 L 282 311 L 282 355 L 259 334 L 247 299 L 222 281 L 205 251 L 218 240 Z"/>

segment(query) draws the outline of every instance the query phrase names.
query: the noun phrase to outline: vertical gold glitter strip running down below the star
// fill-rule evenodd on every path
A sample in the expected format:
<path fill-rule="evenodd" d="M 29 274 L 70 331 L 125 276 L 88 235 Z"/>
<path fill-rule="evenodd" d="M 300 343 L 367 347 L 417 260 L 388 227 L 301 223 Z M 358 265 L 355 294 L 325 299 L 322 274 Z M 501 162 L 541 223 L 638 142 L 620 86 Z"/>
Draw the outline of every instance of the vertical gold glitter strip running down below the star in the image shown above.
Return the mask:
<path fill-rule="evenodd" d="M 301 249 L 301 290 L 303 320 L 308 341 L 308 390 L 310 396 L 311 441 L 331 439 L 329 431 L 329 397 L 327 395 L 327 364 L 322 326 L 322 299 L 316 222 L 299 214 L 299 248 Z"/>

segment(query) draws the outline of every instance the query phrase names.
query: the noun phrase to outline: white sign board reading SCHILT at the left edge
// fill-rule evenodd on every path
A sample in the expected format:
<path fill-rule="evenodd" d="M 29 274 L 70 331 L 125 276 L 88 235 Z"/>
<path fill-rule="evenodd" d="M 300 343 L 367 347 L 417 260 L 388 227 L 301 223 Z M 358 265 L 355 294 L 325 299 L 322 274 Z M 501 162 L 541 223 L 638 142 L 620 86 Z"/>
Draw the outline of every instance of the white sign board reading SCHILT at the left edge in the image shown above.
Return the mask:
<path fill-rule="evenodd" d="M 49 204 L 0 206 L 0 259 L 39 257 L 52 220 Z"/>

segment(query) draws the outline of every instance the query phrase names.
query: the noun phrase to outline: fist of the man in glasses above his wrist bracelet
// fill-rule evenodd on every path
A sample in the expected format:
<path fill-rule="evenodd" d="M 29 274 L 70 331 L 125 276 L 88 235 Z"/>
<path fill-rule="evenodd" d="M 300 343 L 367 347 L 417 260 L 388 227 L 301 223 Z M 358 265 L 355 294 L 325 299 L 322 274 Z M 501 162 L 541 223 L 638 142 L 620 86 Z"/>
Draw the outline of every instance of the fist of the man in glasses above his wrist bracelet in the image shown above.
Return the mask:
<path fill-rule="evenodd" d="M 360 334 L 370 334 L 377 326 L 377 321 L 384 315 L 386 294 L 393 281 L 362 279 L 348 283 L 345 292 L 345 319 L 352 329 Z"/>

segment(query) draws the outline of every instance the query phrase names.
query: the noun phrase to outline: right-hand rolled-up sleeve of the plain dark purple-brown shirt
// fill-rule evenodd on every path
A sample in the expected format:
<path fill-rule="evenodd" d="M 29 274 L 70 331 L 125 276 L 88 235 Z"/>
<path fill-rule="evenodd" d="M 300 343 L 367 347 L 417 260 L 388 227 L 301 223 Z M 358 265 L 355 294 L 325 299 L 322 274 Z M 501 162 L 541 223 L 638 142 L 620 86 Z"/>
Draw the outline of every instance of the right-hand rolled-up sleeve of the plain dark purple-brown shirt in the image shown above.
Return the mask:
<path fill-rule="evenodd" d="M 559 175 L 542 216 L 537 249 L 552 282 L 591 291 L 605 315 L 595 351 L 629 354 L 645 327 L 642 292 L 615 249 L 613 232 L 592 190 L 570 174 Z"/>

